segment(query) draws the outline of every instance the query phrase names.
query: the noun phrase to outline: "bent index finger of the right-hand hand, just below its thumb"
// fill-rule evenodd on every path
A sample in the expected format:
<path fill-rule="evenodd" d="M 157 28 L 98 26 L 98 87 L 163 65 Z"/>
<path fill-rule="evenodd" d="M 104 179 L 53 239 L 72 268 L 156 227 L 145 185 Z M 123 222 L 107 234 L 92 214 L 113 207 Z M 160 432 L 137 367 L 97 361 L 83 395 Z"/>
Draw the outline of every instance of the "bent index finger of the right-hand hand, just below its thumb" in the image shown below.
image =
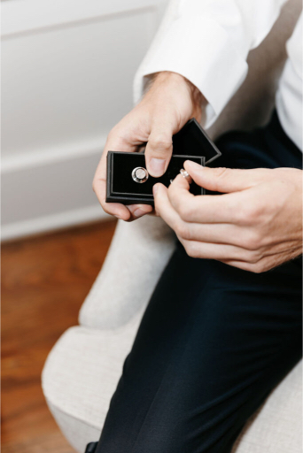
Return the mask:
<path fill-rule="evenodd" d="M 181 174 L 168 188 L 169 201 L 182 219 L 197 223 L 236 223 L 243 192 L 194 196 L 189 189 Z"/>

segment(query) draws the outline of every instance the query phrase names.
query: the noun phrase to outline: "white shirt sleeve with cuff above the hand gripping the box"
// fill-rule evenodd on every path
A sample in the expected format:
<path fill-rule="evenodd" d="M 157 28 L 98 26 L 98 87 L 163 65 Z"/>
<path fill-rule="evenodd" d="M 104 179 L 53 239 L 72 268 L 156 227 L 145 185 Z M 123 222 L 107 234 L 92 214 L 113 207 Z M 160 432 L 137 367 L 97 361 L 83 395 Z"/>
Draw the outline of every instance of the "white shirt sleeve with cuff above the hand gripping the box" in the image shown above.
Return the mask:
<path fill-rule="evenodd" d="M 135 102 L 152 73 L 180 73 L 206 97 L 210 127 L 245 80 L 248 52 L 263 41 L 286 0 L 178 0 L 175 17 L 135 77 Z"/>

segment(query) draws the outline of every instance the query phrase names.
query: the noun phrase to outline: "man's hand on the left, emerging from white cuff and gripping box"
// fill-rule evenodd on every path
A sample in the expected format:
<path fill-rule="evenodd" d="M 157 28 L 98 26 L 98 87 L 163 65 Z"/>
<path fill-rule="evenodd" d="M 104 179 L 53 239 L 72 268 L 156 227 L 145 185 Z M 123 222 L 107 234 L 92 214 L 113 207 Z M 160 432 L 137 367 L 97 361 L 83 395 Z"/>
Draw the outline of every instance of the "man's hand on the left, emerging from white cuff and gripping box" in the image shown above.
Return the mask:
<path fill-rule="evenodd" d="M 172 155 L 172 136 L 192 117 L 200 120 L 202 102 L 198 88 L 177 73 L 155 74 L 151 88 L 140 104 L 113 127 L 97 165 L 93 189 L 105 212 L 119 219 L 133 220 L 152 211 L 146 204 L 124 206 L 105 203 L 107 151 L 135 152 L 146 144 L 145 160 L 151 176 L 167 170 Z"/>

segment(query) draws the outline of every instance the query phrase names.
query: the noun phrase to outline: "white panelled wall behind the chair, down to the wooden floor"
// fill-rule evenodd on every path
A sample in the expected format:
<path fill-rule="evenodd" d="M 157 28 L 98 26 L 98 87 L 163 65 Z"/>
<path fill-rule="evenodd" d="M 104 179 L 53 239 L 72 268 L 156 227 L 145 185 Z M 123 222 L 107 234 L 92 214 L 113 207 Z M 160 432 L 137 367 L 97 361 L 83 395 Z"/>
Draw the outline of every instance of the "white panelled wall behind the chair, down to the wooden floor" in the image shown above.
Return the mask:
<path fill-rule="evenodd" d="M 164 4 L 2 3 L 3 239 L 105 218 L 91 181 Z"/>

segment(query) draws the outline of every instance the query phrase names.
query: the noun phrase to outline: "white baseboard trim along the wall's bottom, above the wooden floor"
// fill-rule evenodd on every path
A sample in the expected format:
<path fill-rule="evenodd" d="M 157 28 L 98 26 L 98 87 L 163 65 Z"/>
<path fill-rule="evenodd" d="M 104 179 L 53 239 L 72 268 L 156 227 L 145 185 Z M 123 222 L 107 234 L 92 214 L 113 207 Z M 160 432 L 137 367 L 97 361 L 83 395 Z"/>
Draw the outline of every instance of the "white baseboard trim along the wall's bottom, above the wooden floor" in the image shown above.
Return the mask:
<path fill-rule="evenodd" d="M 20 238 L 31 234 L 57 230 L 65 226 L 81 225 L 97 219 L 113 219 L 102 210 L 99 204 L 84 208 L 65 211 L 38 219 L 23 220 L 20 222 L 4 225 L 1 228 L 1 240 Z"/>

